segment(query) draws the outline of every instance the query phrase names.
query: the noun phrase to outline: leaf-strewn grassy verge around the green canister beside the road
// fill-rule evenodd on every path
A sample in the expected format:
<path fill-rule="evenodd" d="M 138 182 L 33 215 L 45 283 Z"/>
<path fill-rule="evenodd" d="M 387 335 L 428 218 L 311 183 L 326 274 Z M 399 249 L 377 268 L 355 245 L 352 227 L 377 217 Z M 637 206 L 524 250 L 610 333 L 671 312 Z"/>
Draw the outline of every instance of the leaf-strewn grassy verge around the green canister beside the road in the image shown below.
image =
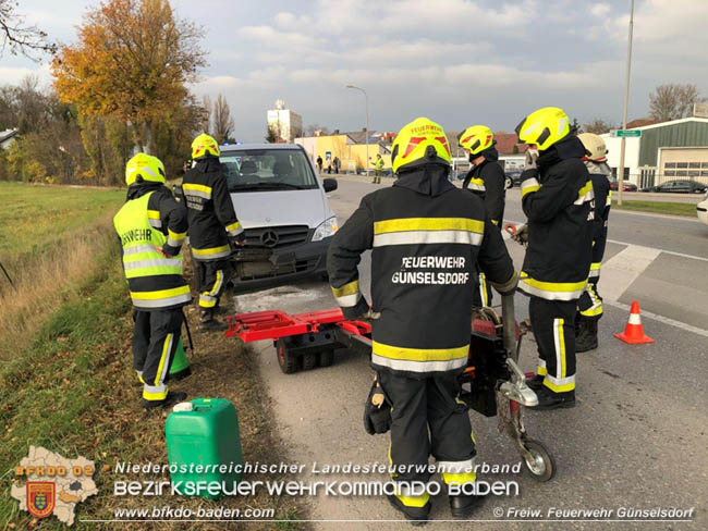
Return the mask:
<path fill-rule="evenodd" d="M 14 467 L 30 445 L 44 446 L 66 458 L 84 456 L 96 464 L 94 481 L 99 494 L 75 509 L 73 529 L 224 529 L 209 523 L 82 523 L 86 519 L 111 519 L 117 508 L 184 506 L 276 509 L 279 522 L 252 526 L 256 529 L 294 529 L 290 521 L 298 515 L 298 501 L 256 496 L 230 497 L 218 502 L 112 495 L 114 481 L 168 481 L 169 477 L 126 476 L 114 472 L 118 461 L 167 462 L 162 410 L 145 412 L 141 407 L 141 385 L 132 369 L 131 306 L 120 268 L 118 246 L 110 227 L 97 229 L 82 239 L 86 266 L 81 274 L 65 280 L 24 328 L 27 337 L 7 348 L 0 365 L 0 530 L 65 529 L 54 517 L 35 520 L 20 510 L 10 496 Z M 54 256 L 57 258 L 57 256 Z M 82 261 L 70 260 L 77 267 Z M 48 266 L 47 263 L 45 266 Z M 46 275 L 50 287 L 53 273 Z M 14 313 L 5 311 L 10 319 Z M 21 316 L 15 316 L 20 321 Z M 194 322 L 193 322 L 194 324 Z M 196 326 L 193 326 L 195 330 Z M 20 329 L 17 329 L 20 330 Z M 4 334 L 4 331 L 3 331 Z M 252 354 L 221 334 L 196 335 L 196 354 L 188 354 L 194 374 L 171 387 L 190 397 L 218 396 L 230 399 L 239 411 L 244 458 L 248 461 L 279 462 L 284 452 L 271 431 L 271 415 Z M 273 480 L 248 476 L 247 480 Z M 233 527 L 233 524 L 227 524 Z"/>

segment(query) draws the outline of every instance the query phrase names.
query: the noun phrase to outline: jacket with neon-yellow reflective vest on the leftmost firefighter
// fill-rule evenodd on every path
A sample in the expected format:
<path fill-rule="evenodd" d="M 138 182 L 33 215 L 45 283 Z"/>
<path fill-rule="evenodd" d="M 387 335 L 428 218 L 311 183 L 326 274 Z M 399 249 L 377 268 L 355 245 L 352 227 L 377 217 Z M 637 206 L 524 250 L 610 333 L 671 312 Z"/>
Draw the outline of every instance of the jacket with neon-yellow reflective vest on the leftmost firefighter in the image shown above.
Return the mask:
<path fill-rule="evenodd" d="M 192 300 L 182 276 L 186 210 L 161 184 L 127 189 L 127 201 L 113 218 L 121 240 L 123 269 L 137 310 L 179 308 Z"/>

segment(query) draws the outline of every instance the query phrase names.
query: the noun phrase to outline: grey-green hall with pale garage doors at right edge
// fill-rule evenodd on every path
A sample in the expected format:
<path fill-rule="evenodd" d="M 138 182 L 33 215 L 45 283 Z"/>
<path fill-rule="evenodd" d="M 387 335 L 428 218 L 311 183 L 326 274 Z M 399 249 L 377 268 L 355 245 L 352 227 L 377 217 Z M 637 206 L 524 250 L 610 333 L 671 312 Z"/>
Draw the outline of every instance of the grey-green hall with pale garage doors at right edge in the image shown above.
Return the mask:
<path fill-rule="evenodd" d="M 708 185 L 708 119 L 684 118 L 640 127 L 640 137 L 626 138 L 624 178 L 639 188 L 676 178 Z M 621 138 L 600 135 L 608 147 L 608 164 L 617 176 Z"/>

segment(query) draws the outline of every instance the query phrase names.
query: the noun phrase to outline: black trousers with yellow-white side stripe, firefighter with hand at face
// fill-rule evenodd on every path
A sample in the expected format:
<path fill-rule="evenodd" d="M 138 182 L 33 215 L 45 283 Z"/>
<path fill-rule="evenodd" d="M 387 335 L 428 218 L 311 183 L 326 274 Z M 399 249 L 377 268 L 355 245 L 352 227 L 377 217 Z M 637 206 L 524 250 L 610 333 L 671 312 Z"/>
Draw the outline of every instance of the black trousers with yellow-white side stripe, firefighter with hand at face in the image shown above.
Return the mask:
<path fill-rule="evenodd" d="M 547 300 L 534 295 L 528 314 L 538 345 L 538 374 L 554 393 L 575 390 L 575 312 L 577 299 Z"/>

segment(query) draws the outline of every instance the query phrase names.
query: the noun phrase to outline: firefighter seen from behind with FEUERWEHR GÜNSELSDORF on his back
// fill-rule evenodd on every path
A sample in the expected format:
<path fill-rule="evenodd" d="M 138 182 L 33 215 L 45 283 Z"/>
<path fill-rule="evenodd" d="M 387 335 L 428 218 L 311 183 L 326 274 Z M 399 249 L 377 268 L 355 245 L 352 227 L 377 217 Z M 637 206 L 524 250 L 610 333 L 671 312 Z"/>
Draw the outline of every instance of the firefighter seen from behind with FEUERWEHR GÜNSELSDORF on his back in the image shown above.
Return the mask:
<path fill-rule="evenodd" d="M 475 481 L 475 441 L 457 375 L 467 362 L 472 285 L 478 261 L 502 293 L 516 274 L 500 232 L 481 200 L 448 181 L 450 148 L 438 124 L 419 118 L 393 143 L 392 187 L 367 195 L 332 238 L 328 272 L 333 295 L 350 319 L 370 319 L 371 366 L 392 404 L 390 460 L 394 507 L 426 520 L 432 455 L 449 485 Z M 371 251 L 373 306 L 359 292 L 357 264 Z M 466 517 L 474 495 L 453 495 L 453 516 Z"/>

